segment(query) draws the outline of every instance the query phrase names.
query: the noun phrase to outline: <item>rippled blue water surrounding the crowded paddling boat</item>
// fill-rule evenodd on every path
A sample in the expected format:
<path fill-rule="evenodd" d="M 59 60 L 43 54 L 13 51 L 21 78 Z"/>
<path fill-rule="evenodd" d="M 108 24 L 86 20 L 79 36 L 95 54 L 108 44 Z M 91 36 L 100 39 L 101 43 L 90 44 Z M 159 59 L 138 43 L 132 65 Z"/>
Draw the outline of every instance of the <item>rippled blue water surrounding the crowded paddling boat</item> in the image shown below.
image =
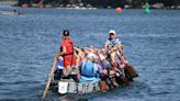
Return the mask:
<path fill-rule="evenodd" d="M 180 101 L 180 11 L 151 10 L 146 15 L 144 10 L 16 9 L 24 14 L 0 15 L 0 100 L 41 100 L 64 29 L 77 46 L 97 47 L 114 29 L 139 74 L 133 86 L 65 97 L 50 90 L 48 100 Z"/>

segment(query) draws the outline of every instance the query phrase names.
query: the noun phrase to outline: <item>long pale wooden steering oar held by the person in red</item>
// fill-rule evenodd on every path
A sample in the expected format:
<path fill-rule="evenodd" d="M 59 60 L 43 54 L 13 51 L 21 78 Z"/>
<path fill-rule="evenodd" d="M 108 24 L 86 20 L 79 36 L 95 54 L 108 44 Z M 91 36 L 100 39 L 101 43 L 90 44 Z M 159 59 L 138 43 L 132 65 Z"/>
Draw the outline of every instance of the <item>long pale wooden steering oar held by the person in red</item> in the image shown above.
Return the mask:
<path fill-rule="evenodd" d="M 47 94 L 47 91 L 48 91 L 48 88 L 50 86 L 50 82 L 52 82 L 52 79 L 53 79 L 53 76 L 54 76 L 54 71 L 55 71 L 55 68 L 56 68 L 56 64 L 57 64 L 57 55 L 55 54 L 55 57 L 54 57 L 54 63 L 53 63 L 53 67 L 52 67 L 52 70 L 50 70 L 50 74 L 49 74 L 49 77 L 48 77 L 48 80 L 47 80 L 47 83 L 46 83 L 46 87 L 45 87 L 45 90 L 44 90 L 44 93 L 43 93 L 43 99 L 46 97 Z"/>

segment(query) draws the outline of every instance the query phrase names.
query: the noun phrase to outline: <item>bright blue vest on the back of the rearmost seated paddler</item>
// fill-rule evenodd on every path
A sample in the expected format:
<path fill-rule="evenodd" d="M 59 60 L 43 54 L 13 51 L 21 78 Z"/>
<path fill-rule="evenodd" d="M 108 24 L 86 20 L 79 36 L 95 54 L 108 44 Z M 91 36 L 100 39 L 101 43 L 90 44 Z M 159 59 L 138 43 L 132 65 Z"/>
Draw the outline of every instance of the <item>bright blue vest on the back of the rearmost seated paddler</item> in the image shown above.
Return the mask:
<path fill-rule="evenodd" d="M 97 64 L 90 60 L 82 61 L 81 69 L 80 69 L 81 76 L 98 77 L 98 71 L 99 71 L 99 67 Z"/>

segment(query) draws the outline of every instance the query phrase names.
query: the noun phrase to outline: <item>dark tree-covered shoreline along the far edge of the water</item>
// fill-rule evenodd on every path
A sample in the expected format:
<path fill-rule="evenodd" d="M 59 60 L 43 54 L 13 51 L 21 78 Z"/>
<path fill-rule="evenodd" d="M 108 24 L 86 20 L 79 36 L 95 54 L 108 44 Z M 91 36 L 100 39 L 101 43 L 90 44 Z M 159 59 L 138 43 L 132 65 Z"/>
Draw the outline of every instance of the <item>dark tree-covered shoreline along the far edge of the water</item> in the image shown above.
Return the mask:
<path fill-rule="evenodd" d="M 41 0 L 19 0 L 19 3 L 38 3 Z M 79 5 L 79 7 L 95 7 L 95 8 L 116 8 L 124 5 L 131 7 L 140 7 L 144 5 L 145 2 L 149 2 L 150 4 L 162 3 L 165 7 L 179 5 L 180 0 L 44 0 L 45 4 L 52 4 L 54 7 L 66 7 L 70 5 Z"/>

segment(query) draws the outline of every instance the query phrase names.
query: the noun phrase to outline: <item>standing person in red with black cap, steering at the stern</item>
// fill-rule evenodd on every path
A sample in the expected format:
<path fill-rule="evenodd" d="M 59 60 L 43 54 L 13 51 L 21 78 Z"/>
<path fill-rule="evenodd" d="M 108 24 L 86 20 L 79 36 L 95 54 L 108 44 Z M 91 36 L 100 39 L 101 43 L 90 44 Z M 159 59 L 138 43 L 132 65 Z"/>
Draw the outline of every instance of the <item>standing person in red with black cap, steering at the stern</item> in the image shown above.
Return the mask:
<path fill-rule="evenodd" d="M 64 77 L 69 77 L 72 71 L 72 67 L 76 65 L 76 58 L 74 56 L 74 42 L 70 38 L 68 30 L 64 30 L 63 32 L 60 53 L 58 55 L 64 57 Z"/>

